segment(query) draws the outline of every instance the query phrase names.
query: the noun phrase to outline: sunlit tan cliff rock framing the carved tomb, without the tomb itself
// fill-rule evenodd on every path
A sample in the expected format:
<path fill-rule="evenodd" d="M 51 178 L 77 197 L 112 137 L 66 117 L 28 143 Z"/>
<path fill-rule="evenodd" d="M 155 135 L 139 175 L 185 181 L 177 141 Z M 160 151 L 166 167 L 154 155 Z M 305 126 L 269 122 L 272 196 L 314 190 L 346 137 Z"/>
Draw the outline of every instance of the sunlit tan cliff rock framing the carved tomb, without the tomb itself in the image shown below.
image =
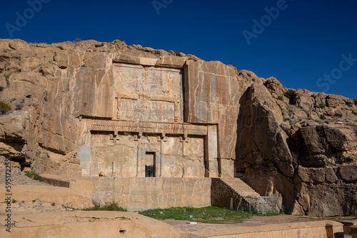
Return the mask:
<path fill-rule="evenodd" d="M 39 173 L 80 175 L 77 148 L 90 137 L 81 118 L 113 118 L 114 63 L 143 66 L 144 71 L 150 67 L 189 68 L 184 122 L 218 125 L 219 159 L 225 165 L 236 157 L 239 95 L 234 90 L 238 85 L 233 66 L 121 41 L 49 45 L 1 39 L 0 52 L 0 100 L 12 109 L 1 116 L 2 155 L 22 167 L 31 165 Z M 233 176 L 233 169 L 226 173 Z"/>

